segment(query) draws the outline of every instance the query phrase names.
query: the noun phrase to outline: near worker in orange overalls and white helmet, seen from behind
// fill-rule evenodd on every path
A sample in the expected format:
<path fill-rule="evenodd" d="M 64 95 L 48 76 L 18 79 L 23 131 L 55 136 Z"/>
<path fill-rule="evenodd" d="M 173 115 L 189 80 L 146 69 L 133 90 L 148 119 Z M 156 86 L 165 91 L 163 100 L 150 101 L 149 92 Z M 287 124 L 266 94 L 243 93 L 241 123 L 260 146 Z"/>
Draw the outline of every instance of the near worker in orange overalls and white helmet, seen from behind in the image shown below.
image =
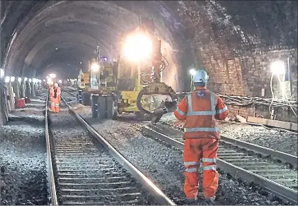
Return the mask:
<path fill-rule="evenodd" d="M 203 162 L 203 196 L 214 201 L 218 187 L 216 157 L 218 149 L 217 120 L 224 120 L 229 111 L 218 95 L 206 88 L 209 76 L 203 70 L 193 77 L 196 90 L 187 95 L 174 114 L 178 120 L 185 120 L 183 139 L 183 160 L 185 169 L 184 191 L 190 203 L 198 196 L 198 168 Z"/>

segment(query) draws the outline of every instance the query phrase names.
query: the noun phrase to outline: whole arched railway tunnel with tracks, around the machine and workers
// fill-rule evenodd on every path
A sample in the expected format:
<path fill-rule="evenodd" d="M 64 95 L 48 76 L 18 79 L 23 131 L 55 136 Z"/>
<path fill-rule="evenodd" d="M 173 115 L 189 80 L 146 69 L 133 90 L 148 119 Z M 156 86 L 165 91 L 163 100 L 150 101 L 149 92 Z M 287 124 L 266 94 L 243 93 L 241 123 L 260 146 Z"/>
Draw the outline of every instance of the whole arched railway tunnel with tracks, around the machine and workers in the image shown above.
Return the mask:
<path fill-rule="evenodd" d="M 1 205 L 188 204 L 184 122 L 95 118 L 95 95 L 80 99 L 80 71 L 119 62 L 146 18 L 178 102 L 204 69 L 229 109 L 213 204 L 297 204 L 297 1 L 1 1 Z"/>

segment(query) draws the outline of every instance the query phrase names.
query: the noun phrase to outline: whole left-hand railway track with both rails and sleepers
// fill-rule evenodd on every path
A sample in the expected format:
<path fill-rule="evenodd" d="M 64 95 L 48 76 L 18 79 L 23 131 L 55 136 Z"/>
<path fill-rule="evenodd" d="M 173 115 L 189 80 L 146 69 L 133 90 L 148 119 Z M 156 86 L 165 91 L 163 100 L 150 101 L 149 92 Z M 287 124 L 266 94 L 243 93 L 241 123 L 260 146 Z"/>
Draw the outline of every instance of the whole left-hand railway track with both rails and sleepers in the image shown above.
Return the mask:
<path fill-rule="evenodd" d="M 46 120 L 52 205 L 175 205 L 62 100 L 82 129 L 52 133 Z"/>

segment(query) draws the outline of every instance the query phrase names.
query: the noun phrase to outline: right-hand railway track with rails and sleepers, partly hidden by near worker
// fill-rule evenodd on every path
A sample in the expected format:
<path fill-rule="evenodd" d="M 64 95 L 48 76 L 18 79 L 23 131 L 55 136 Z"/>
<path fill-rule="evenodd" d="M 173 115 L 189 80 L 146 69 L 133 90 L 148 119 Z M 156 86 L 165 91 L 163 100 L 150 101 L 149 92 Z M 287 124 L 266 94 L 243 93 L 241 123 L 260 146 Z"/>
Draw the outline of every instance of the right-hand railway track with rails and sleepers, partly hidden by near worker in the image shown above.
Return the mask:
<path fill-rule="evenodd" d="M 184 140 L 181 138 L 181 131 L 171 131 L 158 125 L 150 125 L 142 127 L 142 132 L 183 150 Z M 292 162 L 291 167 L 288 167 L 286 162 Z M 279 198 L 297 205 L 297 157 L 295 156 L 224 137 L 218 148 L 216 165 L 232 176 L 255 182 Z"/>

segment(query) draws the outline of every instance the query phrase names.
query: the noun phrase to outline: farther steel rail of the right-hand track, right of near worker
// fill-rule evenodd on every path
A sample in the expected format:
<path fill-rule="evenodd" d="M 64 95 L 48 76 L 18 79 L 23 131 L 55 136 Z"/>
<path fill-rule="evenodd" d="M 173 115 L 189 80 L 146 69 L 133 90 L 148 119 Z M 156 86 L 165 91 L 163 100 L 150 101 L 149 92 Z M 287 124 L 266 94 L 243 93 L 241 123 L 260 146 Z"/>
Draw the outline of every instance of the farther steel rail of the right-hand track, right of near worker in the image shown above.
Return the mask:
<path fill-rule="evenodd" d="M 225 135 L 221 135 L 221 140 L 223 142 L 233 144 L 233 145 L 243 148 L 243 149 L 250 149 L 251 151 L 254 151 L 256 153 L 261 153 L 266 156 L 271 156 L 272 158 L 276 158 L 278 160 L 281 160 L 282 162 L 288 162 L 288 163 L 290 163 L 290 165 L 297 167 L 297 163 L 298 163 L 297 156 L 293 156 L 291 154 L 277 151 L 274 149 L 270 149 L 267 147 L 263 147 L 263 146 L 260 146 L 257 144 L 252 144 L 250 142 L 244 142 L 242 140 L 236 140 L 234 138 L 227 138 Z"/>

